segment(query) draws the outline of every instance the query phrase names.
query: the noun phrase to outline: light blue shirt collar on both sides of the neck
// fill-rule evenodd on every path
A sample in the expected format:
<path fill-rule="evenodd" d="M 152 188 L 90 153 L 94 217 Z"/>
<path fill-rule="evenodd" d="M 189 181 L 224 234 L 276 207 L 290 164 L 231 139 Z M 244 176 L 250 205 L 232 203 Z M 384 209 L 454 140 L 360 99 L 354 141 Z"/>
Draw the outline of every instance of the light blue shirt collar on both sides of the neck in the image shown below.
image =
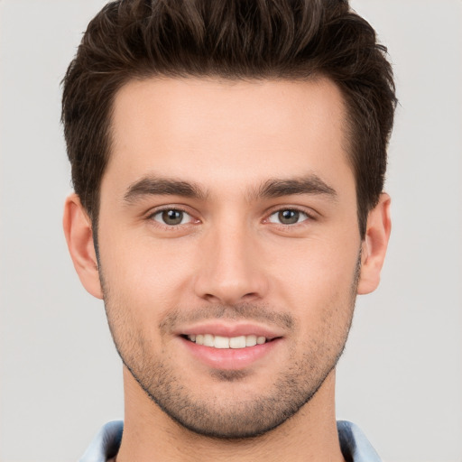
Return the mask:
<path fill-rule="evenodd" d="M 106 423 L 79 462 L 106 462 L 115 457 L 119 450 L 123 430 L 122 420 Z M 347 420 L 338 420 L 337 430 L 340 448 L 347 462 L 381 462 L 371 443 L 357 425 Z"/>

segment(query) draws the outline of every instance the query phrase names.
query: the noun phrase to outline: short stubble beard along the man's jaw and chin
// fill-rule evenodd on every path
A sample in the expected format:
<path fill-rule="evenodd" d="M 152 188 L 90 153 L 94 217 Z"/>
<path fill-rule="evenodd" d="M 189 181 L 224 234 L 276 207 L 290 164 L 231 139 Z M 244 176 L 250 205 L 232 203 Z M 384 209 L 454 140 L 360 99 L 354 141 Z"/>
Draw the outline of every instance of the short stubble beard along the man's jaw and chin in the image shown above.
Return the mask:
<path fill-rule="evenodd" d="M 250 399 L 239 394 L 239 383 L 252 380 L 252 377 L 245 371 L 221 370 L 210 373 L 212 380 L 236 383 L 236 393 L 226 399 L 209 395 L 200 398 L 199 393 L 191 390 L 181 374 L 175 371 L 172 366 L 174 358 L 165 351 L 152 351 L 149 340 L 143 337 L 142 329 L 136 327 L 127 307 L 118 306 L 110 300 L 102 272 L 100 278 L 115 348 L 152 402 L 181 427 L 196 434 L 217 439 L 250 439 L 275 429 L 300 411 L 336 367 L 351 327 L 359 272 L 360 256 L 348 303 L 328 310 L 330 314 L 323 320 L 324 335 L 306 341 L 304 353 L 299 354 L 299 358 L 295 354 L 295 347 L 292 347 L 288 365 L 265 391 L 254 393 Z M 217 307 L 217 310 L 223 312 L 225 309 Z M 242 307 L 226 307 L 226 310 L 244 312 Z M 258 310 L 254 307 L 254 311 Z M 117 313 L 117 316 L 111 316 L 112 313 Z M 338 319 L 344 319 L 343 324 L 333 329 Z"/>

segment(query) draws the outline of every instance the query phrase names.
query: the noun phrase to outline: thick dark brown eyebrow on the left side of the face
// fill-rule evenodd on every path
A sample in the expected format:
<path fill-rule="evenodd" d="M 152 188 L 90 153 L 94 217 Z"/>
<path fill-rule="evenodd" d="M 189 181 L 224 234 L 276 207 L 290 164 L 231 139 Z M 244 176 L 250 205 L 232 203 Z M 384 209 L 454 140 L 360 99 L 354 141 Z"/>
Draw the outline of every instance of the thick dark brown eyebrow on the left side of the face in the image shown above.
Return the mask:
<path fill-rule="evenodd" d="M 144 177 L 128 187 L 124 200 L 131 203 L 143 196 L 182 196 L 191 199 L 205 199 L 208 194 L 199 185 L 189 181 Z"/>

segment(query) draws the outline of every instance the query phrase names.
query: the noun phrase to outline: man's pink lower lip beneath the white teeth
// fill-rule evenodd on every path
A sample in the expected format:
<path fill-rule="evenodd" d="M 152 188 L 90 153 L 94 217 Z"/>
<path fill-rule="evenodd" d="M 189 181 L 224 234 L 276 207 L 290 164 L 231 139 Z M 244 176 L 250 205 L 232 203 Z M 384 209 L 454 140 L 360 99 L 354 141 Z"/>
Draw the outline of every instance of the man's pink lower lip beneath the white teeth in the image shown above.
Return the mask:
<path fill-rule="evenodd" d="M 254 365 L 255 362 L 273 351 L 273 348 L 281 343 L 282 338 L 275 338 L 262 345 L 245 348 L 204 347 L 184 337 L 180 337 L 180 340 L 189 352 L 205 365 L 214 369 L 233 371 Z"/>

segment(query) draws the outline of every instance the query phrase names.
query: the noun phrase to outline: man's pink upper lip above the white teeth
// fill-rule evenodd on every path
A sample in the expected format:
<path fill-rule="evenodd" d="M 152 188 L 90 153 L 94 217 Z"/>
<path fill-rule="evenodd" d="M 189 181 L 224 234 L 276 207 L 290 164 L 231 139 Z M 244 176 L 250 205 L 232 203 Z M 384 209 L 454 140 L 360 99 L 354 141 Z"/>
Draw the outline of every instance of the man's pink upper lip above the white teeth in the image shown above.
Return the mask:
<path fill-rule="evenodd" d="M 249 321 L 226 322 L 223 320 L 217 321 L 216 319 L 203 321 L 185 328 L 180 328 L 175 332 L 175 334 L 180 336 L 211 334 L 221 337 L 241 337 L 255 335 L 257 337 L 266 337 L 270 340 L 276 337 L 282 337 L 282 331 L 277 328 L 269 328 L 267 326 L 262 326 L 258 323 L 252 323 Z"/>

